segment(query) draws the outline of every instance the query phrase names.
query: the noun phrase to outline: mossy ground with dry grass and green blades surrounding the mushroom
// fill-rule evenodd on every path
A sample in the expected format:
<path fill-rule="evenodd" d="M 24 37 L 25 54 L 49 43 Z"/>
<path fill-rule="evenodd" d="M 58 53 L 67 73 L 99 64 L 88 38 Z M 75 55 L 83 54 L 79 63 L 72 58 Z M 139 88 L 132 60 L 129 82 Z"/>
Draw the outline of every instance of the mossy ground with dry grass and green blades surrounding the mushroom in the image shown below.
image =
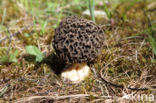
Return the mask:
<path fill-rule="evenodd" d="M 156 101 L 155 0 L 95 0 L 104 49 L 85 81 L 61 80 L 54 29 L 70 15 L 91 20 L 88 1 L 0 1 L 0 103 Z M 30 45 L 38 54 L 31 55 Z"/>

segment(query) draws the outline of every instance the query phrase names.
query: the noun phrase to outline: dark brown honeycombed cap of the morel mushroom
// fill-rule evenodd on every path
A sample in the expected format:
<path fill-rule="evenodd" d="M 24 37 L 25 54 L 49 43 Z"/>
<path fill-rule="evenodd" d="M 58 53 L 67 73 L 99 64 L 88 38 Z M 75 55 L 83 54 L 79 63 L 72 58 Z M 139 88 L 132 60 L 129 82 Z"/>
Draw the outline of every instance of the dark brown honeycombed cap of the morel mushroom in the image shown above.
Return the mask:
<path fill-rule="evenodd" d="M 104 32 L 93 21 L 76 16 L 63 19 L 55 29 L 53 47 L 66 64 L 88 63 L 100 54 Z"/>

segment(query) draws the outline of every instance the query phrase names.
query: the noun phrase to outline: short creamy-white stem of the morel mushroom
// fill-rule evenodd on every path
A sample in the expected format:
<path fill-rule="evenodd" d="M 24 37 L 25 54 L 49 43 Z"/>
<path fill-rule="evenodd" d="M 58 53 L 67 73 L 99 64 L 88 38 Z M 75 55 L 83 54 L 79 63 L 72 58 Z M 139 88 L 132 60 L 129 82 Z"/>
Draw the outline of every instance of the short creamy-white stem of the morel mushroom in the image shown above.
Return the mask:
<path fill-rule="evenodd" d="M 90 68 L 86 63 L 72 64 L 61 73 L 61 78 L 64 81 L 72 83 L 80 83 L 90 74 Z"/>

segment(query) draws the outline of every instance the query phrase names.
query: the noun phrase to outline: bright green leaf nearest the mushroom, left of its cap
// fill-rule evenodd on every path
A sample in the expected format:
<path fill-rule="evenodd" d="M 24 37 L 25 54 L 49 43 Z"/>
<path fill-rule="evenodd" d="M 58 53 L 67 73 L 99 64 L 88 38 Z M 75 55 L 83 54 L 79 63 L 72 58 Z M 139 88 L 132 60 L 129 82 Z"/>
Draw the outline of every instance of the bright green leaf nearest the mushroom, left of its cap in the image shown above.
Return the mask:
<path fill-rule="evenodd" d="M 44 55 L 36 46 L 29 45 L 26 46 L 25 49 L 28 54 L 36 57 L 35 59 L 36 62 L 41 62 L 43 60 Z"/>

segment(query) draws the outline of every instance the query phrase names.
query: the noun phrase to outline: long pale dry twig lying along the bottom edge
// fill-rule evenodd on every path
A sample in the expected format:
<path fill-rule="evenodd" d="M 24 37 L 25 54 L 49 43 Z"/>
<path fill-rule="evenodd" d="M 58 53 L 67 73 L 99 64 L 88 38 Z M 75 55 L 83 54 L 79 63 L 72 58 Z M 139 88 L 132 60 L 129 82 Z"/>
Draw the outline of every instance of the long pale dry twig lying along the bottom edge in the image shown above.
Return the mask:
<path fill-rule="evenodd" d="M 34 99 L 53 99 L 53 100 L 61 100 L 61 99 L 67 99 L 67 98 L 81 98 L 81 97 L 89 97 L 89 94 L 76 94 L 76 95 L 66 95 L 66 96 L 31 96 L 31 97 L 25 97 L 21 98 L 15 101 L 15 103 L 20 103 L 20 102 L 28 102 L 32 101 Z M 97 96 L 93 95 L 94 97 L 102 97 L 102 98 L 112 98 L 111 96 Z"/>

